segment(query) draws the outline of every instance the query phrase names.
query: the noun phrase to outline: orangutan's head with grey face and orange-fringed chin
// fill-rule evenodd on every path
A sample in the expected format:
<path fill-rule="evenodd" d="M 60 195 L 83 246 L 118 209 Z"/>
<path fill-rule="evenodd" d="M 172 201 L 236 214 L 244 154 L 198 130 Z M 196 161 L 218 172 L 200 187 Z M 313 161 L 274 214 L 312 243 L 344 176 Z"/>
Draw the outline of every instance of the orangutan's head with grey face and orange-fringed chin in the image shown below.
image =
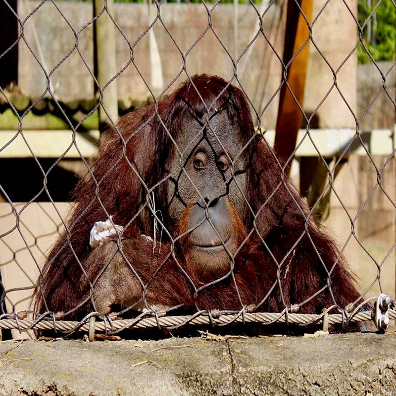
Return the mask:
<path fill-rule="evenodd" d="M 178 121 L 169 123 L 168 224 L 175 237 L 186 233 L 182 250 L 191 271 L 221 276 L 245 238 L 249 216 L 246 144 L 254 130 L 247 102 L 238 88 L 205 75 L 169 100 L 177 103 Z"/>

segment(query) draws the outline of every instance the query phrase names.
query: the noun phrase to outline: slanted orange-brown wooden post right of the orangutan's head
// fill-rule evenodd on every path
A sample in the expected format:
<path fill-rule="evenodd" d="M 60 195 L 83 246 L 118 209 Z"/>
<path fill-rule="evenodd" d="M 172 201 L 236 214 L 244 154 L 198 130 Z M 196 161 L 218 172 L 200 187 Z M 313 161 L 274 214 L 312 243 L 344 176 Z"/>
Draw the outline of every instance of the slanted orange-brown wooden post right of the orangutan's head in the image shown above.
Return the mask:
<path fill-rule="evenodd" d="M 308 26 L 298 9 L 300 5 L 309 23 L 312 21 L 313 0 L 288 0 L 285 45 L 283 62 L 285 65 L 308 38 Z M 298 103 L 302 107 L 305 89 L 305 77 L 308 67 L 309 42 L 296 56 L 287 71 L 287 80 Z M 283 76 L 282 76 L 283 79 Z M 276 122 L 275 152 L 286 162 L 296 148 L 297 133 L 301 125 L 302 113 L 286 83 L 281 88 L 278 118 Z M 288 162 L 285 173 L 289 173 L 292 161 Z"/>

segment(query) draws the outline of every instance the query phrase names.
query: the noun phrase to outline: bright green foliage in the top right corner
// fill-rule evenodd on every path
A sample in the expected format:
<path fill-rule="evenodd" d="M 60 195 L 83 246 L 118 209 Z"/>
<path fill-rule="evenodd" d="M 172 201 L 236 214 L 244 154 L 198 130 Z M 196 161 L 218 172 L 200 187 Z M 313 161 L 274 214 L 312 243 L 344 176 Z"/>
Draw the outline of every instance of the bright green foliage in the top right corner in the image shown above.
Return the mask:
<path fill-rule="evenodd" d="M 396 58 L 396 4 L 395 0 L 382 0 L 369 18 L 377 2 L 372 0 L 372 6 L 367 0 L 358 0 L 357 16 L 363 27 L 363 42 L 374 60 L 395 60 Z M 376 15 L 376 21 L 375 17 Z M 367 18 L 369 18 L 367 20 Z M 371 24 L 371 39 L 369 37 Z M 358 32 L 359 34 L 359 32 Z M 359 63 L 371 62 L 369 55 L 360 44 L 357 48 Z"/>

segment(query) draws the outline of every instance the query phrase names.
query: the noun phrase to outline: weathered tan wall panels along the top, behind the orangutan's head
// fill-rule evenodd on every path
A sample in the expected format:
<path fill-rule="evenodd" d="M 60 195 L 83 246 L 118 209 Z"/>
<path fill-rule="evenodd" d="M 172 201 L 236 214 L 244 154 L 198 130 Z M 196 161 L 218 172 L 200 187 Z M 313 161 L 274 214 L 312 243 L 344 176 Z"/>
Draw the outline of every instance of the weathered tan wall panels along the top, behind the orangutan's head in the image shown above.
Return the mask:
<path fill-rule="evenodd" d="M 324 0 L 315 1 L 314 15 L 319 13 L 324 3 Z M 19 2 L 21 18 L 25 17 L 38 4 L 39 2 L 32 0 Z M 78 48 L 88 67 L 93 71 L 93 27 L 92 24 L 84 27 L 92 18 L 92 4 L 62 1 L 58 1 L 56 4 L 73 28 L 79 32 Z M 263 5 L 258 6 L 260 12 L 265 10 L 266 4 L 263 2 Z M 282 58 L 284 42 L 285 4 L 284 0 L 273 4 L 263 19 L 264 32 L 280 58 Z M 349 1 L 348 5 L 352 10 L 355 10 L 356 0 Z M 202 4 L 163 4 L 160 12 L 162 21 L 184 53 L 190 49 L 208 26 L 207 12 Z M 154 19 L 155 10 L 151 9 L 149 12 L 147 4 L 117 3 L 114 7 L 114 14 L 121 31 L 133 46 L 136 67 L 142 73 L 147 84 L 152 88 L 154 78 L 158 81 L 158 77 L 161 77 L 163 87 L 166 87 L 182 68 L 183 60 L 179 49 L 171 40 L 164 26 L 160 21 L 157 21 L 153 32 L 158 47 L 162 74 L 161 76 L 153 75 L 158 72 L 158 69 L 151 68 L 150 37 L 146 34 L 138 40 L 147 29 L 148 24 Z M 236 54 L 240 55 L 246 49 L 250 40 L 257 33 L 258 18 L 250 4 L 239 5 L 238 48 L 235 48 L 234 42 L 232 4 L 216 6 L 212 12 L 212 26 L 224 47 L 235 57 Z M 34 37 L 34 27 L 43 57 L 39 56 L 40 51 Z M 81 30 L 83 27 L 84 29 Z M 58 65 L 73 49 L 74 34 L 51 2 L 45 2 L 27 20 L 24 34 L 33 52 L 38 54 L 41 61 L 45 60 L 47 69 L 55 68 L 51 81 L 58 98 L 72 100 L 91 98 L 94 95 L 93 79 L 76 49 Z M 342 2 L 327 4 L 316 20 L 312 34 L 315 44 L 334 69 L 338 68 L 347 57 L 357 40 L 354 21 Z M 127 40 L 118 30 L 116 31 L 117 68 L 121 70 L 127 66 L 118 76 L 118 95 L 120 98 L 147 98 L 148 89 L 144 80 L 133 64 L 128 65 L 131 57 Z M 262 117 L 262 125 L 269 129 L 275 127 L 279 93 L 272 101 L 270 98 L 281 82 L 281 63 L 276 53 L 260 34 L 238 64 L 239 80 L 254 107 L 260 112 L 268 105 Z M 229 54 L 209 29 L 188 53 L 186 69 L 190 75 L 208 73 L 230 78 L 233 64 Z M 356 55 L 352 54 L 338 72 L 337 81 L 353 110 L 356 109 L 355 75 Z M 179 81 L 185 79 L 186 74 L 182 73 Z M 312 112 L 318 106 L 331 88 L 332 83 L 331 69 L 318 50 L 310 44 L 304 99 L 306 111 Z M 24 93 L 31 96 L 39 96 L 46 89 L 43 70 L 23 41 L 19 45 L 19 85 Z M 171 90 L 174 87 L 175 85 Z M 159 89 L 154 89 L 155 94 L 158 94 L 159 91 Z M 353 117 L 335 88 L 317 110 L 317 116 L 320 121 L 319 127 L 353 126 Z"/>

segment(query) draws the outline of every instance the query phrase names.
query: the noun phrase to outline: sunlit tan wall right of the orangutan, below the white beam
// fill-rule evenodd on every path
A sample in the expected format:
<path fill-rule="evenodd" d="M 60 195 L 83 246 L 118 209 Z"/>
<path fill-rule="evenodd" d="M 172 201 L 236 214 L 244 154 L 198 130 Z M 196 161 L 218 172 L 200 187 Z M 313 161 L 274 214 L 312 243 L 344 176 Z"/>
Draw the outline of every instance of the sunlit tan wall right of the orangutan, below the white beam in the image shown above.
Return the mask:
<path fill-rule="evenodd" d="M 384 156 L 376 155 L 373 161 L 381 168 Z M 333 164 L 334 161 L 330 168 Z M 364 156 L 349 155 L 335 179 L 337 195 L 332 192 L 330 196 L 330 216 L 324 222 L 339 247 L 344 248 L 361 290 L 371 288 L 368 296 L 378 295 L 381 291 L 393 298 L 396 296 L 395 168 L 393 159 L 381 176 L 389 199 L 377 185 L 377 173 L 371 161 Z"/>

